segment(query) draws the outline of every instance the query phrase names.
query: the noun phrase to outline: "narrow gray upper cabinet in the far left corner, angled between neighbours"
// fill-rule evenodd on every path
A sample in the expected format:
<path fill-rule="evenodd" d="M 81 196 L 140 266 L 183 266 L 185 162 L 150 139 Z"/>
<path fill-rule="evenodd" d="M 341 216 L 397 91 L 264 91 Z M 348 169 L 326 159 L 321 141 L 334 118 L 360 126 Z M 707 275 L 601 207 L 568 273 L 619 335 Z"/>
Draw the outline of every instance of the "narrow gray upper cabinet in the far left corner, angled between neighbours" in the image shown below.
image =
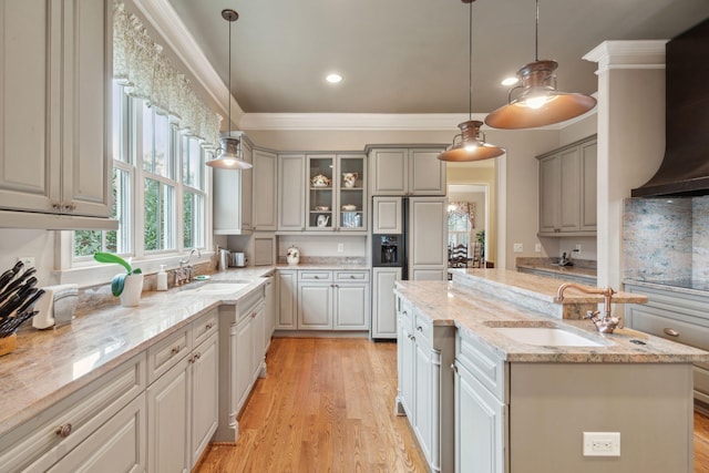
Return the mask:
<path fill-rule="evenodd" d="M 254 150 L 254 232 L 275 232 L 278 228 L 277 167 L 276 154 Z"/>

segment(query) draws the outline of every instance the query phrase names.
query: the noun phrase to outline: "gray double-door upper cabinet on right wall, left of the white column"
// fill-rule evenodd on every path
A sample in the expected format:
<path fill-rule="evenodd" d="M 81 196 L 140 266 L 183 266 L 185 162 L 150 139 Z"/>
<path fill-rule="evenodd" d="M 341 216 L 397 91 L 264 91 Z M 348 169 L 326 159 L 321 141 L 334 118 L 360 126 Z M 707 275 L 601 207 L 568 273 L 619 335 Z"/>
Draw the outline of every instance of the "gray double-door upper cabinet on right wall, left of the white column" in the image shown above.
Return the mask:
<path fill-rule="evenodd" d="M 596 235 L 596 136 L 540 160 L 540 236 Z"/>

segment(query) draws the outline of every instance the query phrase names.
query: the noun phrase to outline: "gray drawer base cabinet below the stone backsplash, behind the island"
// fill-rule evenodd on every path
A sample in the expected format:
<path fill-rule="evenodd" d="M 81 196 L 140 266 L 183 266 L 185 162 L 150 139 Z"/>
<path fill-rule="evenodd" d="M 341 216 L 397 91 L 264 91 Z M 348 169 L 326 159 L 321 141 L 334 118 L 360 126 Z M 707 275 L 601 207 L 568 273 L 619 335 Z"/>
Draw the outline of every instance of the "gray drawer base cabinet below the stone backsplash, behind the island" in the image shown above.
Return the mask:
<path fill-rule="evenodd" d="M 709 350 L 709 297 L 626 284 L 628 292 L 647 296 L 647 305 L 628 305 L 626 323 L 636 330 Z M 695 400 L 709 413 L 709 363 L 695 364 Z"/>

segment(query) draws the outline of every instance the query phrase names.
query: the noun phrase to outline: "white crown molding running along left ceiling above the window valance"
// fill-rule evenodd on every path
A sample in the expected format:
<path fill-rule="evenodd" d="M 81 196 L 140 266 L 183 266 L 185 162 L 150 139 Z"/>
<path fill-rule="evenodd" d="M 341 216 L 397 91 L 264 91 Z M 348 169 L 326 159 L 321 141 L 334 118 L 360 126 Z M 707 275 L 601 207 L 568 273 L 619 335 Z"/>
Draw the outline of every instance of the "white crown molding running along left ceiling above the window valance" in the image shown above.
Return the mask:
<path fill-rule="evenodd" d="M 218 104 L 226 117 L 228 110 L 225 97 L 232 101 L 232 121 L 238 123 L 244 115 L 242 106 L 236 102 L 226 84 L 222 81 L 212 63 L 202 52 L 194 37 L 182 22 L 168 0 L 133 0 L 135 7 L 150 21 L 153 28 L 169 47 L 172 52 L 183 62 L 189 73 Z M 225 120 L 226 122 L 226 120 Z"/>

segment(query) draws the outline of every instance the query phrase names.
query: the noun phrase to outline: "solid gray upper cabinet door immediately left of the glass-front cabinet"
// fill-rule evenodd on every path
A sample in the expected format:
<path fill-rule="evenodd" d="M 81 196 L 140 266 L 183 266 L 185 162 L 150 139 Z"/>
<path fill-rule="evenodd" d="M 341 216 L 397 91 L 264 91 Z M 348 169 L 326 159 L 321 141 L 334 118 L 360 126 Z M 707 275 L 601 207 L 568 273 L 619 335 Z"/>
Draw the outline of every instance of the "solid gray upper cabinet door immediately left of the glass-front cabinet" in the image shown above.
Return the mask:
<path fill-rule="evenodd" d="M 306 156 L 278 155 L 278 230 L 306 229 Z"/>

